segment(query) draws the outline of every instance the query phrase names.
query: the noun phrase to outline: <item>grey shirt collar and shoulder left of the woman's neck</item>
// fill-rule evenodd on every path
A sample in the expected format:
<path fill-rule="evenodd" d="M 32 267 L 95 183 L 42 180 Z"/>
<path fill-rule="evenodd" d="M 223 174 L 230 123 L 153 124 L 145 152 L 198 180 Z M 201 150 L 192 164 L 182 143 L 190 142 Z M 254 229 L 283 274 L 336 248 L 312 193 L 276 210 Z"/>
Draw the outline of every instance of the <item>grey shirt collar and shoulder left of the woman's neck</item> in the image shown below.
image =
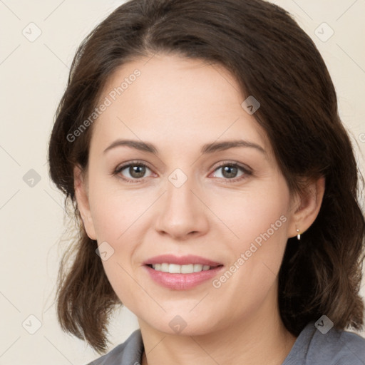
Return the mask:
<path fill-rule="evenodd" d="M 88 365 L 140 365 L 143 349 L 140 329 L 136 329 L 123 344 Z"/>

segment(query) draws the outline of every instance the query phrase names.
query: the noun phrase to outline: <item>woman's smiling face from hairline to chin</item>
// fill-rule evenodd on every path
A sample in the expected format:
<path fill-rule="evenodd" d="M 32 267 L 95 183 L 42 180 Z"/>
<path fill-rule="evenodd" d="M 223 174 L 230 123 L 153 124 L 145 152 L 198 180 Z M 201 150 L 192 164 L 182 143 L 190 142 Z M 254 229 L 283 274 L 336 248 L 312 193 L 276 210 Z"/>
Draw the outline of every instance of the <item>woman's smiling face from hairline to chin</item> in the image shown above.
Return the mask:
<path fill-rule="evenodd" d="M 247 96 L 224 68 L 178 56 L 147 61 L 118 69 L 93 124 L 82 213 L 110 284 L 165 333 L 272 316 L 294 203 L 247 113 L 255 109 L 242 107 Z M 160 255 L 173 257 L 147 266 Z"/>

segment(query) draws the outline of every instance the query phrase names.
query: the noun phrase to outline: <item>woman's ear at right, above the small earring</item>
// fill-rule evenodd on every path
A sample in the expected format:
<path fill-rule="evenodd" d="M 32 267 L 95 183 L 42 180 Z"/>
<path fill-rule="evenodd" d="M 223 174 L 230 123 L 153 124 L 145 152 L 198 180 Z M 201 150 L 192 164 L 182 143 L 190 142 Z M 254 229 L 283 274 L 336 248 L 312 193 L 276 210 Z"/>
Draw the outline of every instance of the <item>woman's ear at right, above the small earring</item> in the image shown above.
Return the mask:
<path fill-rule="evenodd" d="M 289 222 L 289 237 L 304 233 L 316 220 L 321 209 L 324 189 L 325 178 L 322 177 L 309 183 L 302 193 L 294 197 L 292 219 Z"/>

